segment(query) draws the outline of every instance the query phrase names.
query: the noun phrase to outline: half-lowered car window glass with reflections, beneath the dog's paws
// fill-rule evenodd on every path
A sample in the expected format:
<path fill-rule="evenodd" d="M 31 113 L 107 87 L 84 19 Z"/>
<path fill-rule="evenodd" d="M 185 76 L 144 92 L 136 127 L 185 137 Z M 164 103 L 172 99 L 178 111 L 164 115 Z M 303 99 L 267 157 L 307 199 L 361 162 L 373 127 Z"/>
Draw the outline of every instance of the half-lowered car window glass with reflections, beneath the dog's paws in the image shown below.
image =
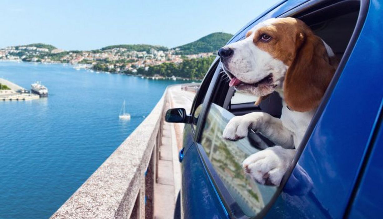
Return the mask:
<path fill-rule="evenodd" d="M 276 187 L 256 183 L 242 169 L 242 161 L 267 148 L 268 144 L 255 133 L 238 141 L 223 139 L 223 130 L 233 116 L 226 109 L 212 103 L 201 145 L 232 198 L 247 216 L 254 216 L 270 201 Z"/>

